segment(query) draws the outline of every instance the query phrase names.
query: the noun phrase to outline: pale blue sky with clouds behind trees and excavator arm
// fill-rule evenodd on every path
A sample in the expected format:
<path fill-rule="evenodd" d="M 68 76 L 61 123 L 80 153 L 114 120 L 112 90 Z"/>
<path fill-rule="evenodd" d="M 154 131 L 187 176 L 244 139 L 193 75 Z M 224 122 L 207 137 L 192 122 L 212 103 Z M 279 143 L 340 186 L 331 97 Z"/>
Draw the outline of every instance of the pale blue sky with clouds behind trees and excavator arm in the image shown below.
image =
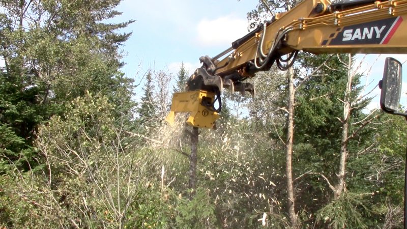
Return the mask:
<path fill-rule="evenodd" d="M 200 67 L 200 56 L 215 56 L 248 33 L 247 13 L 255 9 L 257 3 L 258 0 L 124 0 L 117 8 L 123 14 L 109 20 L 136 20 L 121 31 L 133 32 L 122 47 L 123 61 L 127 63 L 122 71 L 127 77 L 135 78 L 136 83 L 148 69 L 166 71 L 176 77 L 182 62 L 192 73 Z M 357 55 L 356 66 L 363 56 Z M 362 81 L 368 85 L 365 92 L 373 90 L 369 95 L 375 96 L 369 109 L 379 107 L 380 89 L 374 87 L 382 79 L 387 56 L 393 56 L 401 63 L 407 60 L 407 55 L 370 54 L 358 69 L 365 74 L 370 69 L 370 74 Z M 140 89 L 141 86 L 136 93 Z M 403 79 L 400 100 L 404 106 L 407 105 L 406 92 L 407 76 Z"/>

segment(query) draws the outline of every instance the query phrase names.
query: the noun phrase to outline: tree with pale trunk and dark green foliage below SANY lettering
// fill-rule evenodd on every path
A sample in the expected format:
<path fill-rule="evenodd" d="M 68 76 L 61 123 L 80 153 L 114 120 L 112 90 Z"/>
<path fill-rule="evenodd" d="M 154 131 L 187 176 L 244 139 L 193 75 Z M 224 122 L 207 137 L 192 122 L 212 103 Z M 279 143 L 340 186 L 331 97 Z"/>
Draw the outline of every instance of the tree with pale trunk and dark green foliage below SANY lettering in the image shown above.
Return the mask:
<path fill-rule="evenodd" d="M 294 155 L 295 160 L 306 165 L 295 169 L 298 176 L 296 186 L 301 193 L 297 201 L 300 206 L 308 206 L 308 211 L 323 214 L 323 223 L 333 225 L 335 222 L 335 228 L 361 226 L 364 225 L 361 216 L 365 213 L 363 208 L 359 212 L 354 207 L 362 206 L 361 196 L 371 192 L 351 188 L 345 193 L 345 187 L 352 187 L 351 184 L 345 186 L 346 164 L 353 159 L 352 154 L 371 149 L 374 135 L 366 127 L 378 115 L 362 112 L 370 99 L 361 94 L 361 75 L 352 68 L 351 55 L 337 55 L 329 62 L 326 62 L 326 56 L 309 57 L 303 57 L 303 65 L 315 69 L 311 66 L 325 63 L 326 68 L 316 72 L 317 77 L 303 83 L 297 96 Z M 304 176 L 308 180 L 301 182 Z M 318 184 L 321 182 L 325 184 Z M 313 198 L 318 202 L 309 201 Z"/>

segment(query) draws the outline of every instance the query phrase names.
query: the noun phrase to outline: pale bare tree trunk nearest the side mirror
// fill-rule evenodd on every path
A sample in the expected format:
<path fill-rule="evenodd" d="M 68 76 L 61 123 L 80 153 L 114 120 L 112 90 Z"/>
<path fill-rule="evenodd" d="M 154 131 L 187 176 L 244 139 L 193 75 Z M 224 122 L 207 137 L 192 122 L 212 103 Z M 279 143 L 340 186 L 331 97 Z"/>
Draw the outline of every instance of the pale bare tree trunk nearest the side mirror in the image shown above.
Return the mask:
<path fill-rule="evenodd" d="M 343 119 L 342 119 L 342 138 L 340 144 L 340 161 L 339 161 L 339 169 L 338 169 L 338 183 L 335 185 L 334 190 L 334 197 L 335 199 L 338 198 L 342 191 L 345 184 L 345 168 L 346 168 L 346 157 L 347 157 L 347 135 L 349 130 L 349 117 L 351 116 L 351 101 L 350 95 L 352 92 L 352 79 L 353 74 L 351 72 L 351 64 L 352 64 L 352 56 L 349 54 L 348 56 L 348 70 L 347 70 L 347 84 L 346 84 L 346 91 L 345 91 L 345 99 L 343 104 Z"/>

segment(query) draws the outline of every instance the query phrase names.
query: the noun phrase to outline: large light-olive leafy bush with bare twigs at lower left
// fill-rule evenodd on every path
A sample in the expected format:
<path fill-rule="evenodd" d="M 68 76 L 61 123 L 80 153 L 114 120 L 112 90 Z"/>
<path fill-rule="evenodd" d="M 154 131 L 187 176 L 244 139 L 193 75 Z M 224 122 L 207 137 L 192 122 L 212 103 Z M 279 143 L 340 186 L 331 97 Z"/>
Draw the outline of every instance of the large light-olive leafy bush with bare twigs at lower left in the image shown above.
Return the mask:
<path fill-rule="evenodd" d="M 149 191 L 142 175 L 155 172 L 157 159 L 115 127 L 113 110 L 106 96 L 87 93 L 39 128 L 41 166 L 20 173 L 9 161 L 2 176 L 0 225 L 123 228 L 137 193 Z"/>

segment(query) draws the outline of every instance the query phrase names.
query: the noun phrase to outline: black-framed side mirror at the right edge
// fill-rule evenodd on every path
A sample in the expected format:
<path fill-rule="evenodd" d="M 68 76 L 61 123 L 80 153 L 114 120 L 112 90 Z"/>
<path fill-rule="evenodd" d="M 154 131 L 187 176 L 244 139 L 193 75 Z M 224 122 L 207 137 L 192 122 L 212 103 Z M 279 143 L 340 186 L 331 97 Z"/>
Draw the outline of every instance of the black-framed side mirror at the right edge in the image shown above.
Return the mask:
<path fill-rule="evenodd" d="M 383 79 L 379 82 L 382 89 L 380 106 L 388 113 L 397 111 L 401 96 L 401 63 L 394 58 L 386 58 Z"/>

